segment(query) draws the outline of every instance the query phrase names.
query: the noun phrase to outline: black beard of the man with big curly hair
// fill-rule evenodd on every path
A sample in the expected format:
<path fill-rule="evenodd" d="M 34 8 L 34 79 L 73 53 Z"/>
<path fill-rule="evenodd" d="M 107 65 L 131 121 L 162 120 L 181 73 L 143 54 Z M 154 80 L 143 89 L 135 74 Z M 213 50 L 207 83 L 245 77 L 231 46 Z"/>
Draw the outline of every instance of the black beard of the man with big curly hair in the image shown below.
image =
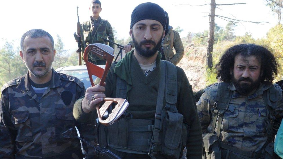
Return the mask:
<path fill-rule="evenodd" d="M 261 77 L 259 77 L 256 81 L 253 81 L 251 78 L 240 77 L 238 80 L 235 79 L 234 73 L 231 75 L 232 83 L 234 84 L 236 90 L 240 92 L 240 94 L 247 95 L 255 90 L 261 81 Z M 249 81 L 251 83 L 240 83 L 241 81 Z"/>

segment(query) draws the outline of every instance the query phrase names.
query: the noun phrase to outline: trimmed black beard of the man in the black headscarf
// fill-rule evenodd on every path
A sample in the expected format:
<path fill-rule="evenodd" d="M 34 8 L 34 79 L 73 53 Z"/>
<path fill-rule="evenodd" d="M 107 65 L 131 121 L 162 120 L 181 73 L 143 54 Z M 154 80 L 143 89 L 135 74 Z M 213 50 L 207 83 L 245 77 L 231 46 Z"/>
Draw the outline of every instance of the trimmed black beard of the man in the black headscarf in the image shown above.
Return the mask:
<path fill-rule="evenodd" d="M 134 34 L 132 33 L 132 37 L 133 37 L 133 43 L 135 46 L 135 50 L 137 50 L 137 52 L 144 57 L 151 57 L 153 56 L 157 50 L 160 48 L 161 43 L 162 43 L 162 39 L 163 37 L 161 36 L 161 38 L 159 39 L 158 43 L 156 44 L 154 41 L 152 40 L 143 40 L 140 43 L 138 43 L 134 37 Z M 142 48 L 143 44 L 153 44 L 154 47 L 152 49 L 146 47 L 145 49 Z"/>

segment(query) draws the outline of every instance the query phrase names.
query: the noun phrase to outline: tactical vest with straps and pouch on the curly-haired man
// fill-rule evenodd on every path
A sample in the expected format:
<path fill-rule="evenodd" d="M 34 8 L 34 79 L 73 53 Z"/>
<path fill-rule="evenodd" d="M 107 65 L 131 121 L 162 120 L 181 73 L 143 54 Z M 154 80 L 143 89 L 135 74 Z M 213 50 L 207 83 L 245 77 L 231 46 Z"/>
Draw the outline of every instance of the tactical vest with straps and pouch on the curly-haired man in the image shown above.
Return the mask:
<path fill-rule="evenodd" d="M 264 104 L 266 106 L 266 112 L 267 112 L 267 120 L 266 120 L 266 130 L 269 135 L 269 138 L 266 142 L 265 149 L 261 153 L 256 152 L 248 152 L 243 151 L 241 149 L 237 149 L 235 147 L 225 145 L 220 142 L 219 136 L 220 136 L 220 129 L 222 125 L 222 117 L 226 111 L 234 112 L 235 107 L 230 106 L 230 100 L 232 96 L 232 91 L 228 89 L 228 86 L 230 83 L 222 82 L 219 83 L 215 103 L 213 105 L 213 123 L 212 123 L 212 129 L 211 132 L 206 134 L 203 137 L 203 143 L 204 143 L 204 153 L 203 158 L 206 159 L 243 159 L 243 158 L 271 158 L 272 154 L 267 154 L 266 149 L 272 149 L 271 143 L 274 139 L 274 135 L 272 133 L 273 129 L 273 120 L 275 119 L 275 108 L 276 106 L 276 97 L 278 96 L 278 92 L 275 90 L 274 85 L 269 87 L 269 89 L 265 90 L 263 92 L 263 100 Z M 276 96 L 277 94 L 277 96 Z M 216 120 L 218 118 L 218 124 L 217 124 L 217 132 L 214 134 L 214 129 L 216 125 Z M 269 151 L 268 151 L 269 152 Z M 271 150 L 273 152 L 273 150 Z M 241 156 L 244 157 L 240 157 Z"/>

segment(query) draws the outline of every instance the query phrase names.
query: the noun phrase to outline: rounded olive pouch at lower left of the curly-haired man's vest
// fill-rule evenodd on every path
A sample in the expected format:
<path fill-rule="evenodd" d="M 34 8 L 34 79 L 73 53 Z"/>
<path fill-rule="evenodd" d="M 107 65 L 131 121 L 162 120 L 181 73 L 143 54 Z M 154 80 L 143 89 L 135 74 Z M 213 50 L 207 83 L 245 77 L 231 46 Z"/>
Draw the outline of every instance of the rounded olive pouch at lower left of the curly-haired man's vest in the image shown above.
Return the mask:
<path fill-rule="evenodd" d="M 203 150 L 203 158 L 221 159 L 220 140 L 216 134 L 208 133 L 204 135 Z"/>

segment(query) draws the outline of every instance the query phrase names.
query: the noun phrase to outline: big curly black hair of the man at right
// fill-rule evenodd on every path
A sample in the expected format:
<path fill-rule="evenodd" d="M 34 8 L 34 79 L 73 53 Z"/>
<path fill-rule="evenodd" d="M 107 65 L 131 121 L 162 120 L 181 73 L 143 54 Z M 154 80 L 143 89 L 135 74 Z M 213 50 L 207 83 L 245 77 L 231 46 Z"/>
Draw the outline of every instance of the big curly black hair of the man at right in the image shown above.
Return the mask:
<path fill-rule="evenodd" d="M 234 67 L 235 57 L 238 54 L 244 57 L 255 56 L 260 61 L 260 69 L 263 71 L 261 82 L 272 82 L 277 75 L 278 63 L 266 47 L 255 44 L 240 44 L 227 49 L 219 63 L 215 65 L 218 70 L 217 79 L 231 82 L 230 69 Z"/>

